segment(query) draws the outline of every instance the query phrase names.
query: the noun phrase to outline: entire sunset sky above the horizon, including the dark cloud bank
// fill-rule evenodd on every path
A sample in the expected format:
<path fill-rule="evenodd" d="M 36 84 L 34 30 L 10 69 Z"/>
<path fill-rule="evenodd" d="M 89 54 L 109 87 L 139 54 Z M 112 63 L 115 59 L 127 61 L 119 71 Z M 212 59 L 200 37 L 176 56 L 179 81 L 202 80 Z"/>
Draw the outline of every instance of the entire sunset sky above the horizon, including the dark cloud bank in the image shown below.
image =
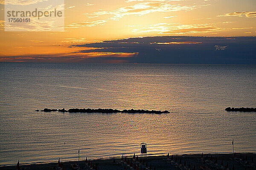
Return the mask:
<path fill-rule="evenodd" d="M 23 5 L 41 1 L 50 2 L 24 0 Z M 243 54 L 247 56 L 242 63 L 256 63 L 255 0 L 65 0 L 64 31 L 47 31 L 50 24 L 44 25 L 46 31 L 42 31 L 38 29 L 40 22 L 26 31 L 4 31 L 4 1 L 0 3 L 0 61 L 182 63 L 177 56 L 186 56 L 190 49 L 200 48 L 192 55 L 199 53 L 202 57 L 210 53 L 201 51 L 203 47 L 208 49 L 209 44 L 212 53 L 217 51 L 218 56 L 233 56 L 237 52 L 221 55 L 219 52 L 239 46 L 241 54 L 245 51 Z M 132 37 L 150 39 L 128 39 Z M 200 37 L 225 38 L 208 41 Z M 147 58 L 146 49 L 154 49 L 151 54 L 160 55 L 159 60 L 152 59 L 152 55 Z M 176 50 L 170 56 L 173 49 L 186 54 Z M 185 59 L 184 63 L 207 63 L 200 57 Z M 231 60 L 217 63 L 233 63 Z"/>

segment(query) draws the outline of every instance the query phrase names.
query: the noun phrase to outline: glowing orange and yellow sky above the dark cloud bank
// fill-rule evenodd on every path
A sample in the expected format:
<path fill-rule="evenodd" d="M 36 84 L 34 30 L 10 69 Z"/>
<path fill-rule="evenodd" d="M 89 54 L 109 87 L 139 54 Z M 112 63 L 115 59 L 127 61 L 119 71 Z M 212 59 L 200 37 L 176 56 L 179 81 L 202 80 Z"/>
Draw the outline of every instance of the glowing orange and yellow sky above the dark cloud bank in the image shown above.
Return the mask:
<path fill-rule="evenodd" d="M 113 55 L 74 54 L 89 48 L 69 46 L 129 37 L 256 36 L 255 0 L 65 0 L 64 31 L 4 31 L 4 1 L 0 3 L 0 61 L 38 56 L 36 61 L 50 62 L 40 56 L 52 56 L 58 62 L 58 56 Z"/>

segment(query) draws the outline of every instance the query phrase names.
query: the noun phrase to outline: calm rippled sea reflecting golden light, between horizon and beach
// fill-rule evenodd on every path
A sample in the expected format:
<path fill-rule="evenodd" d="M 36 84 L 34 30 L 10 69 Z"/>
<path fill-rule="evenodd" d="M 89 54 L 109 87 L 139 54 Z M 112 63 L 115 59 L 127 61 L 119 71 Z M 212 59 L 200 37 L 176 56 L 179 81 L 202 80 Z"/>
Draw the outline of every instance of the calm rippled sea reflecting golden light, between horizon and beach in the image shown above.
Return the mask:
<path fill-rule="evenodd" d="M 256 65 L 0 63 L 0 164 L 256 152 Z M 167 114 L 35 112 L 44 108 Z"/>

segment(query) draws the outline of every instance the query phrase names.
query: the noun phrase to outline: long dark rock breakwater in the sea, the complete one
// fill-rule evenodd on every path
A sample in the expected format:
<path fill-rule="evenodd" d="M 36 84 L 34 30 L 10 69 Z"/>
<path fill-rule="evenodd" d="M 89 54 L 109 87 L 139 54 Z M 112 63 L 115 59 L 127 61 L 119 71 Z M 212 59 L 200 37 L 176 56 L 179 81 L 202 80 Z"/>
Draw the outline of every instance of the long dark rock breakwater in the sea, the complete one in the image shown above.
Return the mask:
<path fill-rule="evenodd" d="M 119 111 L 117 109 L 78 109 L 78 108 L 72 108 L 69 110 L 65 110 L 63 109 L 48 109 L 45 108 L 44 110 L 35 110 L 35 111 L 44 111 L 44 112 L 51 112 L 51 111 L 59 111 L 59 112 L 70 112 L 70 113 L 155 113 L 155 114 L 161 114 L 161 113 L 170 113 L 169 111 L 148 111 L 148 110 L 123 110 L 123 111 Z"/>

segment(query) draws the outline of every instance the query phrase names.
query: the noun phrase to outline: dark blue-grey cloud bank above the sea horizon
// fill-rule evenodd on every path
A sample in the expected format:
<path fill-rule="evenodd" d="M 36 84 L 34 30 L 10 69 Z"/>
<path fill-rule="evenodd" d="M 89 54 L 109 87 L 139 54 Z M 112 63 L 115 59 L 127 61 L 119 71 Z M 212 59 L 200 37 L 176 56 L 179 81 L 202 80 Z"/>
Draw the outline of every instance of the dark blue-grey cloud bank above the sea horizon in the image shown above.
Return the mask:
<path fill-rule="evenodd" d="M 127 63 L 256 64 L 256 37 L 137 37 L 75 45 L 93 47 L 79 53 L 125 53 L 90 58 Z M 84 61 L 86 62 L 86 61 Z"/>

